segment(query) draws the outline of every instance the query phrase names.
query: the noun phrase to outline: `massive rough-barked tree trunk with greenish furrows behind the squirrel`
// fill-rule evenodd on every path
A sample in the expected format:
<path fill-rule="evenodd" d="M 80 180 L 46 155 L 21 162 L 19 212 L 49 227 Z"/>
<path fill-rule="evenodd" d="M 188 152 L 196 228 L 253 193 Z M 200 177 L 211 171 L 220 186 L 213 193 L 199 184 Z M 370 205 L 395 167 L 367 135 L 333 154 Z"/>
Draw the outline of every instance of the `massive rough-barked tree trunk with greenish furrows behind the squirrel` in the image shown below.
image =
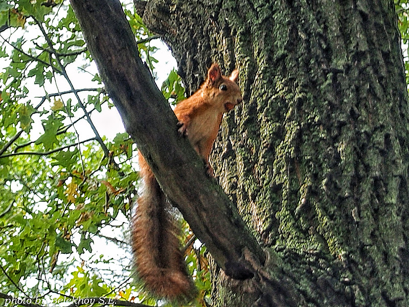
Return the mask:
<path fill-rule="evenodd" d="M 188 91 L 213 61 L 240 69 L 244 103 L 211 164 L 299 304 L 408 306 L 409 118 L 393 2 L 135 6 Z M 245 282 L 215 265 L 212 278 L 214 306 L 256 305 Z"/>

